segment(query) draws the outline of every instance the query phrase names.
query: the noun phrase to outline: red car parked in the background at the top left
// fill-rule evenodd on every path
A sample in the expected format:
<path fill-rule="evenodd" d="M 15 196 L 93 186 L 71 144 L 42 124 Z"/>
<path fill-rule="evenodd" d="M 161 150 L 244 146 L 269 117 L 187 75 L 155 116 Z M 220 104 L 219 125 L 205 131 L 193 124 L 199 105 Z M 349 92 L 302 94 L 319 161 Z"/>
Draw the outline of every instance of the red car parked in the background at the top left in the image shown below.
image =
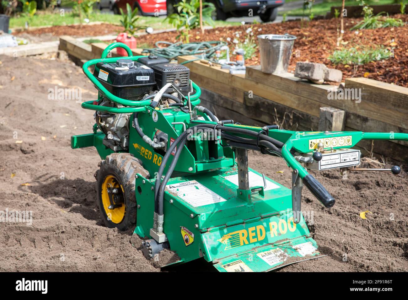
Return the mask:
<path fill-rule="evenodd" d="M 126 3 L 132 8 L 137 7 L 142 16 L 160 16 L 167 13 L 166 0 L 100 0 L 98 7 L 109 8 L 113 13 L 119 14 L 120 8 L 126 12 Z"/>

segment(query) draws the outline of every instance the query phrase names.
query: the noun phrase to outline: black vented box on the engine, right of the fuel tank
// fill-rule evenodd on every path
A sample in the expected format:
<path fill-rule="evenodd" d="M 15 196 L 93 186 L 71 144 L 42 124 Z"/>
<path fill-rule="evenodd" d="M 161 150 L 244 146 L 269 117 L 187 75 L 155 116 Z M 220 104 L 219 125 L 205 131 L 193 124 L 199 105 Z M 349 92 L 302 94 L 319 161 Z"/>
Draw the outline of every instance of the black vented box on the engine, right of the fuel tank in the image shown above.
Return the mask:
<path fill-rule="evenodd" d="M 159 89 L 166 83 L 172 83 L 179 91 L 188 92 L 190 90 L 190 69 L 182 64 L 156 64 L 151 68 Z M 166 90 L 166 93 L 174 91 L 175 89 L 171 87 Z"/>

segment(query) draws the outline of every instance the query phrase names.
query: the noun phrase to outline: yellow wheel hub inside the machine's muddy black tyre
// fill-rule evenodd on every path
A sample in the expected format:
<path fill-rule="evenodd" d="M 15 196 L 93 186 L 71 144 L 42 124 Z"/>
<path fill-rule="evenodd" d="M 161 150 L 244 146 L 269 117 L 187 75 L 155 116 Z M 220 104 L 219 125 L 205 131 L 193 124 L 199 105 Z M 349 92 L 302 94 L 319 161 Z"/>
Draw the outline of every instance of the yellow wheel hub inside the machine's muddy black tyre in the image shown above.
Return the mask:
<path fill-rule="evenodd" d="M 116 194 L 112 193 L 114 189 L 117 189 L 118 191 Z M 121 184 L 119 184 L 119 181 L 115 178 L 115 176 L 108 175 L 105 177 L 102 183 L 101 196 L 106 216 L 108 216 L 108 218 L 115 224 L 119 224 L 120 222 L 122 222 L 125 216 L 124 203 L 118 204 L 121 205 L 120 207 L 116 207 L 115 209 L 109 209 L 109 206 L 112 205 L 111 200 L 113 200 L 114 196 L 122 197 L 122 199 L 124 200 L 123 187 Z"/>

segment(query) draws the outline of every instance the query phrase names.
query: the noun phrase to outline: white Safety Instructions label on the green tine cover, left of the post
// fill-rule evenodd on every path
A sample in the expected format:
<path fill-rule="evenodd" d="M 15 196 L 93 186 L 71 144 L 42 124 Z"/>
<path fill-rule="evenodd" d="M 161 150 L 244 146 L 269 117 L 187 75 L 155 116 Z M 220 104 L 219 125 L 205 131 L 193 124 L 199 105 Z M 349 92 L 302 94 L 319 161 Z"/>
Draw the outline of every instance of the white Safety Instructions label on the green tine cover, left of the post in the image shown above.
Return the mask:
<path fill-rule="evenodd" d="M 197 180 L 167 184 L 166 188 L 170 193 L 176 194 L 193 207 L 226 201 Z"/>

